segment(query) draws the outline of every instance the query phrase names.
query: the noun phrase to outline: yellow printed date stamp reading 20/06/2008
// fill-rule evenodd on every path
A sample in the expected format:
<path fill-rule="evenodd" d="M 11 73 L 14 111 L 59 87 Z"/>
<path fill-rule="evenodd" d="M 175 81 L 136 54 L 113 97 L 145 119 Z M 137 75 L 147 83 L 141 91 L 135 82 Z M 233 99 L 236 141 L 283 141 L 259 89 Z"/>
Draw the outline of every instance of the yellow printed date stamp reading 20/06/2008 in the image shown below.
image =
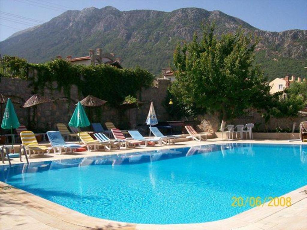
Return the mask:
<path fill-rule="evenodd" d="M 266 206 L 277 207 L 277 206 L 291 206 L 291 197 L 231 197 L 233 201 L 232 207 L 263 207 L 266 202 Z"/>

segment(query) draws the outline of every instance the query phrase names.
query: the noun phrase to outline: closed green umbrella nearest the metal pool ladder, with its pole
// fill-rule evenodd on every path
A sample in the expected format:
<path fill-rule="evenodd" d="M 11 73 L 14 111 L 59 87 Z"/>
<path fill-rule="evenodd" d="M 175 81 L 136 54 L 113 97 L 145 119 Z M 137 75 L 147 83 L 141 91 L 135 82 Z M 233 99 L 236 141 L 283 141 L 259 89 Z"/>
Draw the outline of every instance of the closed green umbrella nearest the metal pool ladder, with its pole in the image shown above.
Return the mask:
<path fill-rule="evenodd" d="M 14 137 L 13 137 L 13 128 L 18 128 L 20 123 L 18 121 L 17 115 L 15 113 L 15 109 L 11 99 L 8 98 L 6 102 L 6 107 L 3 114 L 1 128 L 3 129 L 11 129 L 12 135 L 12 150 L 14 153 Z"/>

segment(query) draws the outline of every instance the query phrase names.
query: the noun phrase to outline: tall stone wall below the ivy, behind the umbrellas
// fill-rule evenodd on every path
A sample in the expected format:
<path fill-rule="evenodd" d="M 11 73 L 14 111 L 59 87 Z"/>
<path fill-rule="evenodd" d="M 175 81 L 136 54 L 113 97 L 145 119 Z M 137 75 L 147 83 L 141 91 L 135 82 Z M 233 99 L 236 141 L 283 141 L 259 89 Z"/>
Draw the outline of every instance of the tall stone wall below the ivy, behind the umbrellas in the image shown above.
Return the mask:
<path fill-rule="evenodd" d="M 155 106 L 158 119 L 160 121 L 168 120 L 168 114 L 162 106 L 162 102 L 165 100 L 169 84 L 169 80 L 156 79 L 153 87 L 147 89 L 143 88 L 141 92 L 138 93 L 139 100 L 148 102 L 139 109 L 121 111 L 111 108 L 111 106 L 107 104 L 102 106 L 101 119 L 99 119 L 99 121 L 102 124 L 106 121 L 113 121 L 119 128 L 135 128 L 138 124 L 145 124 L 151 101 Z M 55 88 L 55 85 L 53 88 Z M 29 87 L 29 82 L 25 80 L 2 78 L 0 82 L 0 93 L 12 99 L 19 122 L 27 127 L 30 127 L 30 121 L 33 119 L 33 108 L 22 108 L 21 106 L 32 96 L 32 90 L 33 89 Z M 78 95 L 77 87 L 72 86 L 70 95 L 71 101 L 65 97 L 63 92 L 57 90 L 51 91 L 45 89 L 44 96 L 55 100 L 55 102 L 37 106 L 38 127 L 41 131 L 56 130 L 56 123 L 59 122 L 68 124 L 75 109 L 74 104 L 87 95 Z M 4 107 L 5 105 L 2 105 L 3 111 Z M 95 117 L 95 109 L 92 111 L 95 122 L 99 122 L 97 116 Z M 89 112 L 88 109 L 87 112 Z"/>

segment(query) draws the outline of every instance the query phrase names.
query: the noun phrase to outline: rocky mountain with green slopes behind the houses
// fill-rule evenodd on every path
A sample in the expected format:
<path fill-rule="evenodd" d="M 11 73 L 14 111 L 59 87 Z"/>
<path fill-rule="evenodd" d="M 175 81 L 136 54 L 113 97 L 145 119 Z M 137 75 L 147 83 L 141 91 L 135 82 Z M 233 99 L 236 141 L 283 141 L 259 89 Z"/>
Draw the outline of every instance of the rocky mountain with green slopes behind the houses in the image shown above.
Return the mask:
<path fill-rule="evenodd" d="M 307 77 L 306 30 L 263 31 L 221 11 L 199 8 L 172 12 L 120 11 L 111 6 L 68 10 L 0 42 L 0 52 L 40 63 L 57 55 L 86 56 L 90 48 L 102 48 L 121 57 L 124 67 L 139 65 L 159 75 L 161 68 L 172 63 L 177 42 L 191 40 L 194 31 L 200 32 L 201 23 L 212 21 L 216 23 L 217 35 L 242 27 L 261 38 L 256 61 L 269 79 L 286 75 Z"/>

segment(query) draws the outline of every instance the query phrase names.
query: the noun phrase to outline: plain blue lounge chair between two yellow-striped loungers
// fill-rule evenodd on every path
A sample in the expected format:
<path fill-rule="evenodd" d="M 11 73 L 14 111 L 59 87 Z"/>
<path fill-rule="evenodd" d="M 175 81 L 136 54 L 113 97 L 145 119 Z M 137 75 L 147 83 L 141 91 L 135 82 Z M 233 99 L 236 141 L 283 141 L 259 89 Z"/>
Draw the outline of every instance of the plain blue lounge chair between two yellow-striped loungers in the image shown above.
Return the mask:
<path fill-rule="evenodd" d="M 82 147 L 79 144 L 67 144 L 64 141 L 60 131 L 48 131 L 47 136 L 50 141 L 51 147 L 56 154 L 62 154 L 62 149 L 64 149 L 65 153 L 68 153 L 68 149 L 73 150 Z"/>

